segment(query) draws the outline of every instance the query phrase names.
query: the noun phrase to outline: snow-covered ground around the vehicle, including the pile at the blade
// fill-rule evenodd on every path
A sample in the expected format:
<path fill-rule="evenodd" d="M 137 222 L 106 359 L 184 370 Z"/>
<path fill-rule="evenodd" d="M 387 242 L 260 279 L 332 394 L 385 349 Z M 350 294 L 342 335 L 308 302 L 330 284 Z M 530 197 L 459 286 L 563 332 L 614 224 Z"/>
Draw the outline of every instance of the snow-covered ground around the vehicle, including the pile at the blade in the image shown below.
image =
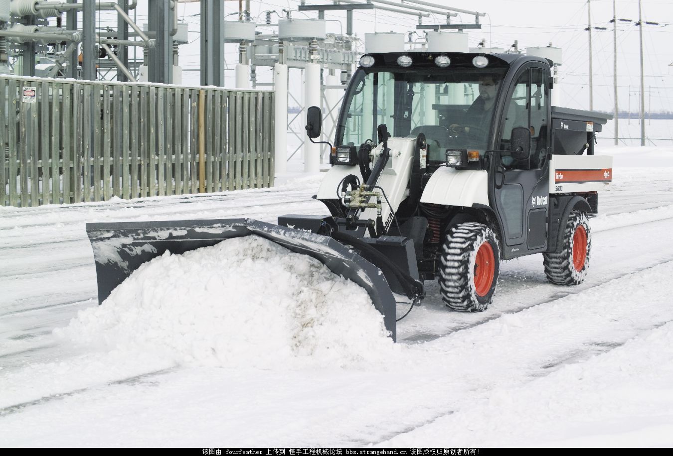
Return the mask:
<path fill-rule="evenodd" d="M 510 261 L 479 314 L 427 282 L 396 344 L 362 289 L 256 238 L 155 259 L 97 305 L 85 223 L 327 214 L 320 174 L 0 208 L 0 447 L 671 447 L 673 148 L 600 153 L 586 282 Z"/>

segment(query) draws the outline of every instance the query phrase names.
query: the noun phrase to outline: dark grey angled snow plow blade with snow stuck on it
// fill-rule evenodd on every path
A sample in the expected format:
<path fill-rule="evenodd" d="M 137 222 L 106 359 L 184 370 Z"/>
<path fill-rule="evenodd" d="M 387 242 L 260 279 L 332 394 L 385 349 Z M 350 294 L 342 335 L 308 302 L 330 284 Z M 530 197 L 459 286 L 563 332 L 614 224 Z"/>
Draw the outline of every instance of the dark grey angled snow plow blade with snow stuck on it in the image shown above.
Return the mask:
<path fill-rule="evenodd" d="M 140 265 L 163 255 L 166 250 L 182 254 L 225 239 L 254 234 L 295 253 L 308 255 L 333 273 L 363 287 L 383 315 L 392 339 L 396 340 L 395 298 L 381 270 L 328 236 L 248 218 L 92 223 L 86 225 L 86 232 L 96 261 L 98 304 Z"/>

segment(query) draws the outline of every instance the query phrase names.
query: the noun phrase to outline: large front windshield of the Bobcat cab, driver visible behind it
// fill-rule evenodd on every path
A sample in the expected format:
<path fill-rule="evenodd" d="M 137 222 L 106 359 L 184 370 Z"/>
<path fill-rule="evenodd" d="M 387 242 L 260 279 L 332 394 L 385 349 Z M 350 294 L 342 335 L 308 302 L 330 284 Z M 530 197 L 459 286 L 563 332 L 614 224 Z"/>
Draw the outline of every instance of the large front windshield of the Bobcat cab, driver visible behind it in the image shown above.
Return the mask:
<path fill-rule="evenodd" d="M 379 71 L 353 75 L 337 144 L 374 143 L 386 124 L 394 138 L 425 134 L 428 159 L 444 162 L 447 148 L 487 148 L 493 105 L 506 69 Z"/>

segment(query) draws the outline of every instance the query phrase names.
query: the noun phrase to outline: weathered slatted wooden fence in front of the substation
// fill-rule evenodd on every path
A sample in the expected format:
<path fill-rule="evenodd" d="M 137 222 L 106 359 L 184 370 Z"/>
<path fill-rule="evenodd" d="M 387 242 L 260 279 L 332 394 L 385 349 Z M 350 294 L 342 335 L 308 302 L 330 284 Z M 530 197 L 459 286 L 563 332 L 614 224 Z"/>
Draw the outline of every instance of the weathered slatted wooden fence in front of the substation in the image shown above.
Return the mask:
<path fill-rule="evenodd" d="M 0 77 L 0 206 L 255 187 L 274 175 L 273 93 Z"/>

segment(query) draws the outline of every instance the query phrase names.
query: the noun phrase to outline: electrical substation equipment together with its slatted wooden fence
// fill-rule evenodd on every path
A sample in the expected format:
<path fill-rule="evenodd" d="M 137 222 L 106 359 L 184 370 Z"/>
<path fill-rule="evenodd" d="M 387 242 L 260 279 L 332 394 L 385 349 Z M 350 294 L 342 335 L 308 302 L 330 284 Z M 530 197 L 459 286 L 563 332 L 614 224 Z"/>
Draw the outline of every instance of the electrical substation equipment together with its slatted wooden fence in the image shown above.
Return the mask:
<path fill-rule="evenodd" d="M 199 30 L 178 17 L 181 3 L 199 3 Z M 249 0 L 0 0 L 0 201 L 37 206 L 273 185 L 296 154 L 304 171 L 327 163 L 330 148 L 308 141 L 297 124 L 317 105 L 321 140 L 334 138 L 363 53 L 522 52 L 485 40 L 468 46 L 484 12 L 421 0 L 292 3 L 255 18 Z M 239 9 L 225 15 L 225 5 Z M 137 19 L 140 8 L 147 20 Z M 410 29 L 355 33 L 354 17 L 377 9 Z M 327 32 L 325 13 L 339 15 L 339 33 Z M 459 23 L 458 14 L 471 19 Z M 181 54 L 193 52 L 190 32 L 200 43 L 196 86 L 183 84 L 180 65 Z M 236 49 L 235 62 L 225 61 L 225 46 Z M 557 76 L 559 48 L 526 52 L 553 60 Z M 272 80 L 260 80 L 263 67 L 273 69 L 265 73 Z M 233 87 L 225 87 L 227 71 L 235 72 Z M 299 79 L 302 89 L 292 93 L 288 81 Z M 454 90 L 446 97 L 471 103 L 478 95 L 468 85 Z M 288 113 L 289 103 L 299 112 Z"/>

